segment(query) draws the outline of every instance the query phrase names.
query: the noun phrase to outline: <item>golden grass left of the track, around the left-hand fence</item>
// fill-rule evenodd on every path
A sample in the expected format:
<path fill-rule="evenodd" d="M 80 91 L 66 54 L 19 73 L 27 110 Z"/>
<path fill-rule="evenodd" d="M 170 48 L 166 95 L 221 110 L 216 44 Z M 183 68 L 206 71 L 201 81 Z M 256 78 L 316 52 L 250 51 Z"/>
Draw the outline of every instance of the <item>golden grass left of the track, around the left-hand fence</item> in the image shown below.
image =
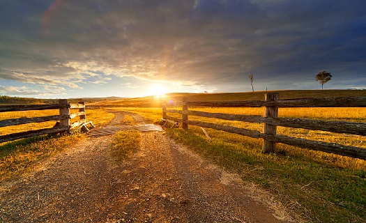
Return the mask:
<path fill-rule="evenodd" d="M 55 110 L 58 114 L 58 110 Z M 98 126 L 105 125 L 114 117 L 114 114 L 103 111 L 102 109 L 88 109 L 86 111 L 88 121 Z M 24 112 L 6 112 L 0 113 L 1 119 L 19 118 L 22 116 L 47 116 L 51 115 L 52 110 Z M 13 132 L 22 132 L 26 130 L 35 130 L 40 128 L 52 128 L 55 122 L 32 123 L 34 125 L 26 128 L 14 125 L 6 128 L 0 128 L 1 134 L 10 134 Z M 13 128 L 13 129 L 12 129 Z M 4 130 L 5 129 L 5 130 Z M 77 132 L 77 131 L 75 131 Z M 28 139 L 19 139 L 15 141 L 4 142 L 0 144 L 0 182 L 17 178 L 22 174 L 29 173 L 36 165 L 47 157 L 56 155 L 64 151 L 68 146 L 73 146 L 78 141 L 84 139 L 84 134 L 56 134 L 53 136 L 43 135 L 40 137 L 31 137 Z"/>

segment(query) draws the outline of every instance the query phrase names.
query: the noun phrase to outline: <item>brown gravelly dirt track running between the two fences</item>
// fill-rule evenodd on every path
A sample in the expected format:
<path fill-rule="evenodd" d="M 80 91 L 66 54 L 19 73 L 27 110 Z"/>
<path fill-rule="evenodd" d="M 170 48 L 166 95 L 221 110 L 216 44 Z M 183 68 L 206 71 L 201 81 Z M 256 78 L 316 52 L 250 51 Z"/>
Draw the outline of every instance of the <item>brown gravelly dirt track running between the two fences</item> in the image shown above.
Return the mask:
<path fill-rule="evenodd" d="M 130 114 L 137 123 L 144 119 Z M 116 113 L 109 126 L 121 123 Z M 176 144 L 142 132 L 128 161 L 109 156 L 113 135 L 88 137 L 0 192 L 0 222 L 287 222 L 241 180 Z"/>

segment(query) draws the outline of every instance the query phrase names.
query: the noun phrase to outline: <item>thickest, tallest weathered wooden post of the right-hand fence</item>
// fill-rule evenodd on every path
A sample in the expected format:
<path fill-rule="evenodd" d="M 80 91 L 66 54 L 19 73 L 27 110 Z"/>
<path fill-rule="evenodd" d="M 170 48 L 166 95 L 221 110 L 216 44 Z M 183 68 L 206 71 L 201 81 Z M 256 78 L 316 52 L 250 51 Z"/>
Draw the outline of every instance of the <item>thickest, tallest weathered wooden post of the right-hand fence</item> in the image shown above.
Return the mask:
<path fill-rule="evenodd" d="M 272 102 L 279 99 L 278 93 L 266 93 L 266 101 Z M 264 118 L 277 118 L 278 116 L 278 107 L 266 106 L 264 110 Z M 264 123 L 264 134 L 272 134 L 275 135 L 277 130 L 277 125 L 270 125 Z M 273 141 L 269 141 L 267 139 L 263 139 L 263 151 L 264 153 L 274 153 L 276 148 L 276 144 Z"/>

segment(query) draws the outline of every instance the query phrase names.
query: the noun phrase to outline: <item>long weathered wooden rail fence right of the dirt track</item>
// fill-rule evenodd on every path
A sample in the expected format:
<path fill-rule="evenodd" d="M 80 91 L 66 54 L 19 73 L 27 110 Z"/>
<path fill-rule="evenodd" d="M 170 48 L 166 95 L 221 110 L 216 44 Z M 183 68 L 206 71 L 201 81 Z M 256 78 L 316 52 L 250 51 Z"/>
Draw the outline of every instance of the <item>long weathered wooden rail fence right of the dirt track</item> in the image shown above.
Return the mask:
<path fill-rule="evenodd" d="M 192 111 L 188 106 L 198 107 L 265 107 L 264 116 L 221 114 Z M 279 118 L 278 108 L 283 107 L 366 107 L 366 97 L 349 98 L 300 98 L 280 100 L 278 93 L 266 93 L 266 100 L 247 100 L 234 102 L 190 102 L 183 98 L 183 110 L 167 110 L 167 105 L 162 105 L 162 118 L 165 120 L 182 123 L 182 128 L 187 130 L 188 125 L 197 125 L 202 128 L 211 128 L 241 134 L 247 137 L 263 139 L 264 153 L 273 153 L 275 144 L 282 143 L 315 151 L 335 153 L 349 157 L 366 160 L 366 148 L 344 146 L 323 141 L 313 141 L 276 134 L 277 125 L 289 128 L 303 128 L 307 130 L 320 130 L 336 133 L 357 134 L 366 136 L 366 123 L 352 123 L 344 121 L 321 121 L 301 118 Z M 167 116 L 167 113 L 181 114 L 182 118 Z M 247 130 L 229 125 L 219 125 L 202 121 L 190 121 L 188 115 L 207 118 L 220 118 L 229 121 L 244 121 L 249 123 L 263 123 L 264 131 Z"/>

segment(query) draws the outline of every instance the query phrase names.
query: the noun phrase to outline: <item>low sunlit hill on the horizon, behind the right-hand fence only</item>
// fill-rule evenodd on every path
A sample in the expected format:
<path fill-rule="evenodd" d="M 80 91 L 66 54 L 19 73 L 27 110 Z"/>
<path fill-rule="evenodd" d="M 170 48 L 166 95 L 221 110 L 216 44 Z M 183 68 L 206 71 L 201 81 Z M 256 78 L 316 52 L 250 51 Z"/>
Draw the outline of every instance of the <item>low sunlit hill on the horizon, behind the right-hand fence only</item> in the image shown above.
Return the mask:
<path fill-rule="evenodd" d="M 283 90 L 271 91 L 280 93 L 280 99 L 291 98 L 337 98 L 337 97 L 366 97 L 366 90 Z M 239 93 L 168 93 L 165 98 L 125 98 L 122 100 L 100 100 L 87 102 L 86 106 L 93 107 L 161 107 L 161 102 L 172 102 L 181 105 L 183 97 L 191 101 L 235 101 L 235 100 L 264 100 L 265 91 Z"/>

